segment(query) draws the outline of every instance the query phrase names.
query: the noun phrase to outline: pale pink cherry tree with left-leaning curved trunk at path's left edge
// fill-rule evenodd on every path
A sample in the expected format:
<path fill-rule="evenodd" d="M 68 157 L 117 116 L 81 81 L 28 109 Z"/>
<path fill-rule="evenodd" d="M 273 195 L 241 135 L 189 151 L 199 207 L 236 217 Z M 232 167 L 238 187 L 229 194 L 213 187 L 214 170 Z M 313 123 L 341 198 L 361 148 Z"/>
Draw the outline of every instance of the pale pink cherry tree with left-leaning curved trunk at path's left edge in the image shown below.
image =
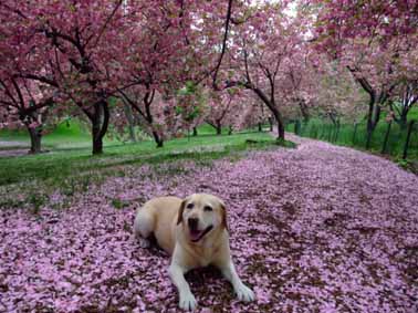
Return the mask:
<path fill-rule="evenodd" d="M 236 25 L 229 49 L 224 87 L 241 86 L 252 91 L 271 111 L 278 123 L 278 138 L 284 139 L 284 119 L 278 90 L 283 66 L 301 49 L 297 25 L 284 14 L 284 3 L 254 7 L 251 18 Z"/>

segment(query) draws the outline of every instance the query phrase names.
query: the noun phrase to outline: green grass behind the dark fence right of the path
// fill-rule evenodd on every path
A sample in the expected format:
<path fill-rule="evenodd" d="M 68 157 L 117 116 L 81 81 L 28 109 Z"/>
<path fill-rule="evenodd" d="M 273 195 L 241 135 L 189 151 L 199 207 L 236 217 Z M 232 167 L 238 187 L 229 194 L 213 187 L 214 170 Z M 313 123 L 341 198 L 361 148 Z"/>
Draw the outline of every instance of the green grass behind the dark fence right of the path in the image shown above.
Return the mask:
<path fill-rule="evenodd" d="M 286 126 L 288 132 L 294 132 L 295 125 L 290 124 Z M 376 129 L 373 133 L 370 149 L 373 153 L 382 154 L 384 139 L 388 128 L 388 123 L 385 119 L 380 121 Z M 360 149 L 366 148 L 366 124 L 365 122 L 358 124 L 355 132 L 354 124 L 342 124 L 339 131 L 332 124 L 324 123 L 321 119 L 313 118 L 307 124 L 301 124 L 299 135 L 316 138 L 321 140 L 327 140 L 337 145 L 351 146 Z M 406 142 L 407 129 L 401 128 L 395 122 L 391 124 L 388 143 L 385 154 L 400 158 L 404 152 Z M 410 144 L 408 148 L 408 158 L 411 160 L 418 159 L 418 119 L 414 126 Z"/>

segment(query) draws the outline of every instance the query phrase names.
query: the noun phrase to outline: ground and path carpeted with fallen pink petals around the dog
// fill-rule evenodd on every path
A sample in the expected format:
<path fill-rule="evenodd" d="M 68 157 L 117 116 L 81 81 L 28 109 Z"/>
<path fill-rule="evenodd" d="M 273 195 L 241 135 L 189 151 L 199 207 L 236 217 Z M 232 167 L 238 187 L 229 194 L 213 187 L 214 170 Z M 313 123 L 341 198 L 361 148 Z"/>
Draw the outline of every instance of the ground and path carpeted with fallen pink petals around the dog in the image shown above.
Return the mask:
<path fill-rule="evenodd" d="M 169 258 L 135 242 L 134 211 L 197 191 L 228 204 L 233 259 L 258 296 L 239 303 L 216 270 L 196 270 L 201 312 L 418 312 L 418 177 L 294 140 L 203 168 L 126 167 L 65 210 L 0 211 L 0 312 L 176 312 Z"/>

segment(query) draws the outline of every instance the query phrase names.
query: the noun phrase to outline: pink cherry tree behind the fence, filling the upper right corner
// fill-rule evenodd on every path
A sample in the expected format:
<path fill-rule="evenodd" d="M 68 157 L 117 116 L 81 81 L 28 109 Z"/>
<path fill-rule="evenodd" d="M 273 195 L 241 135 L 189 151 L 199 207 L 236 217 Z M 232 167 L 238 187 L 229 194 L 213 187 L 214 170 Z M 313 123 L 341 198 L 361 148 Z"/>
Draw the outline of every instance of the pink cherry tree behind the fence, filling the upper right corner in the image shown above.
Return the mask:
<path fill-rule="evenodd" d="M 399 64 L 416 46 L 416 1 L 310 1 L 317 17 L 314 40 L 346 66 L 369 95 L 367 146 L 382 106 L 399 84 Z M 399 72 L 400 71 L 400 72 Z"/>

